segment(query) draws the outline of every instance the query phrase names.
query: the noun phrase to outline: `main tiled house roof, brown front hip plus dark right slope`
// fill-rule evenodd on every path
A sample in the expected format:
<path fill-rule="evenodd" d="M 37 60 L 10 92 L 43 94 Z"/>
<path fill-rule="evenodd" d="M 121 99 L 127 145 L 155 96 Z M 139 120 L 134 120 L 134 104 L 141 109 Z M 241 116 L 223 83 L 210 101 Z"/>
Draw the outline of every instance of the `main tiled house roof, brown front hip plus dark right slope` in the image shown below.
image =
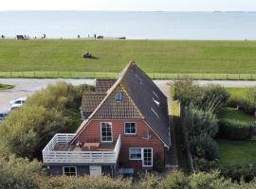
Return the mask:
<path fill-rule="evenodd" d="M 121 102 L 115 99 L 117 91 L 122 93 Z M 89 119 L 137 118 L 143 118 L 159 138 L 171 146 L 167 98 L 136 63 L 130 62 L 98 108 L 82 123 L 73 140 L 80 135 Z"/>

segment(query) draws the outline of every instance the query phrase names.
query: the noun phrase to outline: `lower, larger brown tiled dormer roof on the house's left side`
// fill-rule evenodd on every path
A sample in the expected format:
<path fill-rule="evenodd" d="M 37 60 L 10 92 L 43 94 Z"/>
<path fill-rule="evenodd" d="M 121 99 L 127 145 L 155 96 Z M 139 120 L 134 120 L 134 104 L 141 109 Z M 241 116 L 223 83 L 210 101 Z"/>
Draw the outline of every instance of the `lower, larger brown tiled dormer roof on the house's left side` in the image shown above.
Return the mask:
<path fill-rule="evenodd" d="M 93 112 L 101 103 L 106 94 L 85 93 L 82 95 L 81 110 L 84 112 Z"/>

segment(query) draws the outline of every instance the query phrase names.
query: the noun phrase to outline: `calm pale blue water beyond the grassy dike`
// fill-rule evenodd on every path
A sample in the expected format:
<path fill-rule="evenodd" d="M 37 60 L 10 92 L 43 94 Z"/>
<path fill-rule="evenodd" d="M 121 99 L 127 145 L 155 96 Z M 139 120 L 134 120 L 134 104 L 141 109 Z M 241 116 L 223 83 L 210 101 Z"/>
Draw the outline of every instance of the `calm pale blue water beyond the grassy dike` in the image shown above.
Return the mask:
<path fill-rule="evenodd" d="M 256 12 L 4 11 L 0 35 L 256 40 Z"/>

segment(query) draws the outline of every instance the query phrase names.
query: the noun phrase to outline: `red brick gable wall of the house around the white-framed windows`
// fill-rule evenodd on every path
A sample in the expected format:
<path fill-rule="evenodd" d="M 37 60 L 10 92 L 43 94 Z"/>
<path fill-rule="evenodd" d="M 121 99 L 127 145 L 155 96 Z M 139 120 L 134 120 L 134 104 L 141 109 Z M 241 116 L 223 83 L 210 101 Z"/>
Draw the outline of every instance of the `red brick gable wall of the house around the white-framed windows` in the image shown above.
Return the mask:
<path fill-rule="evenodd" d="M 164 160 L 164 144 L 156 136 L 155 132 L 143 120 L 92 120 L 82 130 L 79 136 L 79 141 L 82 143 L 88 142 L 89 140 L 101 141 L 101 122 L 112 123 L 113 143 L 115 144 L 118 140 L 119 134 L 121 135 L 121 149 L 119 154 L 119 163 L 123 167 L 133 167 L 141 169 L 142 161 L 129 160 L 129 147 L 153 147 L 153 158 L 161 158 Z M 126 135 L 124 134 L 124 123 L 125 122 L 136 122 L 137 123 L 137 134 Z M 150 139 L 146 139 L 148 133 L 151 135 Z M 145 167 L 150 168 L 150 167 Z"/>

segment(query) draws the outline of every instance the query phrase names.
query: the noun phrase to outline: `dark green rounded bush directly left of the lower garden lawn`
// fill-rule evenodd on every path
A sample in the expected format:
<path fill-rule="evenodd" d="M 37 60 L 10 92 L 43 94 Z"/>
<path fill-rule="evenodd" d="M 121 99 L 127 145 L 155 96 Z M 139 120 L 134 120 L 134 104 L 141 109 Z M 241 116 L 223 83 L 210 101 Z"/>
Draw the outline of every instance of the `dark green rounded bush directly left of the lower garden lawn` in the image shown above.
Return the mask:
<path fill-rule="evenodd" d="M 194 136 L 189 142 L 192 157 L 213 161 L 219 157 L 218 145 L 209 135 Z"/>

